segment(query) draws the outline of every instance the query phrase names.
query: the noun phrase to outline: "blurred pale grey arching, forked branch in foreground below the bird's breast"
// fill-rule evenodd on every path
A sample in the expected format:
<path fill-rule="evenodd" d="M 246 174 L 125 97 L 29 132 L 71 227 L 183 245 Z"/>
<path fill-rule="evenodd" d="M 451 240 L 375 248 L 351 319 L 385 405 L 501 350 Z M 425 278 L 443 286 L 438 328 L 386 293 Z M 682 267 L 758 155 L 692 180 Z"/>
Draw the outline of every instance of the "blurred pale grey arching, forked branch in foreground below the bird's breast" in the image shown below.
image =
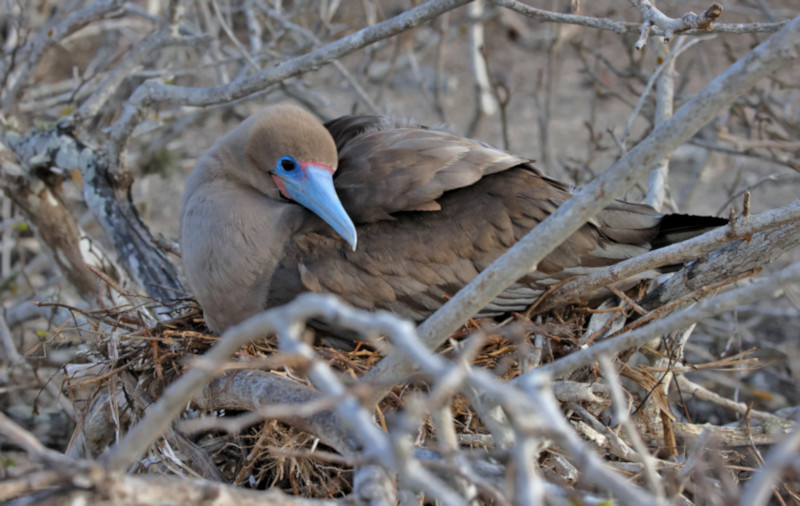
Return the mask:
<path fill-rule="evenodd" d="M 197 361 L 195 367 L 174 382 L 149 408 L 144 418 L 122 439 L 120 444 L 101 460 L 105 461 L 111 469 L 126 468 L 138 459 L 145 449 L 170 426 L 171 421 L 182 411 L 187 400 L 202 388 L 205 381 L 216 374 L 217 369 L 224 365 L 230 354 L 250 340 L 260 338 L 265 332 L 273 329 L 283 329 L 283 332 L 279 333 L 280 339 L 286 341 L 287 336 L 291 338 L 292 334 L 297 335 L 310 318 L 331 323 L 337 328 L 353 329 L 365 335 L 387 335 L 393 344 L 419 362 L 423 370 L 429 374 L 438 371 L 432 374 L 437 380 L 436 387 L 430 394 L 432 402 L 449 403 L 456 392 L 465 393 L 467 390 L 479 392 L 487 404 L 499 404 L 510 414 L 510 420 L 515 430 L 521 431 L 519 437 L 522 440 L 535 441 L 541 437 L 554 438 L 559 445 L 565 448 L 570 457 L 579 463 L 583 475 L 593 484 L 620 499 L 638 501 L 652 499 L 647 493 L 605 467 L 602 460 L 572 431 L 559 411 L 558 402 L 549 383 L 542 385 L 541 391 L 538 391 L 533 399 L 528 399 L 525 393 L 503 383 L 487 371 L 471 370 L 461 362 L 456 366 L 451 366 L 447 360 L 429 351 L 421 344 L 410 323 L 385 312 L 370 314 L 356 310 L 345 306 L 338 299 L 318 294 L 300 296 L 287 306 L 257 315 L 226 332 L 222 340 L 209 350 L 202 360 Z M 296 345 L 299 341 L 292 342 Z M 291 349 L 291 343 L 288 344 Z M 302 351 L 301 355 L 304 355 Z M 308 369 L 306 369 L 309 377 L 313 377 L 315 383 L 319 384 L 320 388 L 328 390 L 329 394 L 338 395 L 342 392 L 342 387 L 337 382 L 323 384 L 329 380 L 323 374 L 324 371 L 313 372 L 315 367 L 321 367 L 318 364 L 327 367 L 325 363 L 315 357 L 310 357 L 310 360 L 312 363 L 308 364 Z M 245 376 L 244 372 L 239 374 Z M 228 379 L 235 381 L 236 376 Z M 243 381 L 246 381 L 246 378 Z M 432 478 L 426 477 L 428 475 L 422 467 L 419 457 L 413 452 L 411 435 L 421 423 L 422 417 L 428 413 L 427 410 L 413 410 L 408 407 L 404 413 L 398 415 L 396 423 L 393 424 L 396 428 L 393 428 L 390 434 L 387 435 L 380 431 L 377 431 L 376 434 L 377 427 L 371 419 L 363 421 L 358 413 L 356 413 L 358 416 L 354 416 L 343 412 L 344 409 L 361 412 L 365 410 L 363 404 L 353 398 L 353 394 L 343 392 L 343 395 L 345 401 L 348 402 L 339 403 L 340 409 L 337 410 L 337 415 L 354 432 L 353 440 L 360 445 L 360 448 L 354 447 L 351 451 L 359 452 L 359 461 L 380 462 L 384 470 L 398 472 L 402 483 L 411 485 L 416 490 L 424 490 L 427 495 L 436 498 L 443 504 L 461 503 L 459 499 L 461 496 L 455 489 L 440 480 L 434 480 L 434 484 Z M 547 401 L 544 397 L 552 399 Z M 365 423 L 371 424 L 371 434 L 365 433 Z M 387 450 L 388 455 L 375 455 L 375 446 L 367 446 L 374 445 L 376 438 L 383 442 L 390 438 L 393 440 L 394 444 Z M 377 447 L 383 446 L 378 445 Z M 530 452 L 536 453 L 540 447 L 524 445 L 524 448 L 528 448 L 526 456 L 534 458 L 535 455 L 530 455 Z M 369 470 L 369 468 L 365 469 Z M 357 470 L 356 476 L 358 474 Z M 518 490 L 522 491 L 525 488 Z"/>

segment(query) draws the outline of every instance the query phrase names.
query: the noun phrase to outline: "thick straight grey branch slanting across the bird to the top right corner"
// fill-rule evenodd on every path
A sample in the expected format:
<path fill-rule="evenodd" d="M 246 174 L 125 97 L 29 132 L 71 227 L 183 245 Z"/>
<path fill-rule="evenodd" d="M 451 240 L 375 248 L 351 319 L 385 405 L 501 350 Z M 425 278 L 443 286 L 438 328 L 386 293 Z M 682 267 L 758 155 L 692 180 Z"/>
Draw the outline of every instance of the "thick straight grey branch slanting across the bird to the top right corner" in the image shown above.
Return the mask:
<path fill-rule="evenodd" d="M 507 286 L 521 278 L 586 221 L 614 198 L 642 180 L 656 164 L 686 142 L 761 78 L 800 54 L 800 16 L 759 44 L 744 58 L 717 76 L 668 121 L 577 193 L 556 212 L 495 260 L 418 328 L 431 348 L 438 347 L 458 327 L 485 307 Z M 406 377 L 414 365 L 400 355 L 382 360 L 365 377 L 366 382 L 391 383 Z M 386 395 L 376 393 L 375 403 Z"/>

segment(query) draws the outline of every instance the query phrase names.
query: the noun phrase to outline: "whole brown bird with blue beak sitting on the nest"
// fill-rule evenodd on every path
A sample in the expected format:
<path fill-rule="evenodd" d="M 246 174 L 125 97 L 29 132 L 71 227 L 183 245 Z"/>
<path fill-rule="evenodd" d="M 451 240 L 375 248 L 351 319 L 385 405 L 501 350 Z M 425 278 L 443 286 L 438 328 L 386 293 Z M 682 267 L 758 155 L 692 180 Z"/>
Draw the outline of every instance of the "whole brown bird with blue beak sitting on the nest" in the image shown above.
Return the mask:
<path fill-rule="evenodd" d="M 420 321 L 570 196 L 479 141 L 376 116 L 323 125 L 275 105 L 189 176 L 183 268 L 215 332 L 307 291 Z M 618 201 L 479 316 L 523 310 L 559 280 L 723 223 Z"/>

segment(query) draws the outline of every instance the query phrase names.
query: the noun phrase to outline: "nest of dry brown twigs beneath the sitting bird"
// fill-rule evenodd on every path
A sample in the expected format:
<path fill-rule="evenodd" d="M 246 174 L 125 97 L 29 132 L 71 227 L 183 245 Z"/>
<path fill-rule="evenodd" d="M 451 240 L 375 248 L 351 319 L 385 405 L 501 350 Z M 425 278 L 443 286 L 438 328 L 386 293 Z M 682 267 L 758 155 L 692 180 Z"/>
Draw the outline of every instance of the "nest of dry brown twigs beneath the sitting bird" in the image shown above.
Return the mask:
<path fill-rule="evenodd" d="M 125 433 L 127 427 L 142 416 L 147 405 L 186 371 L 193 358 L 218 341 L 218 337 L 208 333 L 202 313 L 193 301 L 181 301 L 171 309 L 176 315 L 173 319 L 150 327 L 142 325 L 143 320 L 135 316 L 136 308 L 113 308 L 84 315 L 93 328 L 91 345 L 83 353 L 83 363 L 68 368 L 69 379 L 65 387 L 76 401 L 76 406 L 82 409 L 85 418 L 90 418 L 98 406 L 105 409 L 102 406 L 108 403 L 108 399 L 116 399 L 116 403 L 111 403 L 114 406 L 112 411 L 117 414 L 114 430 L 117 435 Z M 603 315 L 605 318 L 600 331 L 592 328 L 592 325 L 598 325 L 591 323 L 593 315 Z M 628 322 L 633 316 L 635 312 L 625 305 L 600 310 L 576 305 L 534 319 L 526 315 L 512 315 L 503 321 L 470 321 L 439 352 L 445 357 L 456 357 L 463 348 L 464 339 L 480 331 L 482 344 L 472 360 L 473 366 L 490 370 L 507 381 L 532 365 L 550 362 L 597 339 L 603 331 L 608 331 L 612 320 Z M 60 332 L 63 331 L 65 329 L 60 329 Z M 85 334 L 86 330 L 82 332 Z M 356 342 L 351 349 L 344 350 L 322 344 L 319 339 L 316 341 L 314 349 L 317 356 L 335 369 L 341 378 L 351 380 L 351 383 L 355 383 L 381 358 L 375 343 Z M 645 353 L 668 357 L 663 347 L 661 350 L 657 348 L 647 348 Z M 302 367 L 294 367 L 291 360 L 284 361 L 283 358 L 279 354 L 275 336 L 264 336 L 243 347 L 229 365 L 236 369 L 268 370 L 270 374 L 307 385 Z M 628 400 L 638 406 L 634 419 L 642 429 L 640 433 L 650 435 L 646 443 L 657 456 L 669 458 L 677 455 L 676 429 L 672 426 L 674 417 L 669 415 L 671 401 L 657 388 L 666 371 L 626 362 L 622 360 L 618 363 L 619 373 L 627 380 L 625 387 Z M 753 365 L 754 359 L 743 354 L 714 362 L 709 367 L 724 370 Z M 595 449 L 601 452 L 609 465 L 631 477 L 637 475 L 640 469 L 631 461 L 631 456 L 626 458 L 613 438 L 602 434 L 601 428 L 591 427 L 586 422 L 587 417 L 603 423 L 610 422 L 608 390 L 598 382 L 598 371 L 584 369 L 570 379 L 572 383 L 582 384 L 596 397 L 592 400 L 575 397 L 574 392 L 557 392 L 568 419 L 584 438 L 590 441 L 594 438 L 592 443 Z M 396 386 L 374 412 L 379 425 L 388 430 L 387 425 L 391 422 L 387 422 L 387 419 L 403 409 L 407 399 L 429 389 L 430 386 L 421 380 Z M 103 403 L 99 402 L 101 398 Z M 649 407 L 645 409 L 648 400 Z M 688 414 L 685 404 L 683 409 Z M 463 395 L 457 394 L 452 398 L 450 411 L 459 447 L 491 453 L 494 442 L 489 430 Z M 198 419 L 203 415 L 225 419 L 240 413 L 224 408 L 188 406 L 183 421 Z M 79 426 L 78 431 L 81 430 L 87 429 Z M 418 428 L 417 443 L 437 449 L 436 437 L 434 425 L 428 417 Z M 174 438 L 161 438 L 139 461 L 135 471 L 189 478 L 203 476 L 242 487 L 278 488 L 285 493 L 307 498 L 338 498 L 352 490 L 353 466 L 357 462 L 340 456 L 318 437 L 303 432 L 291 423 L 261 420 L 241 430 L 217 428 L 193 432 L 187 438 L 181 437 L 181 440 L 188 441 L 186 446 L 178 444 L 176 447 Z M 186 451 L 187 447 L 207 456 L 205 468 L 198 466 L 196 455 L 192 454 L 193 451 Z M 100 450 L 102 448 L 97 447 L 89 453 Z M 752 456 L 746 451 L 729 447 L 717 455 L 724 461 L 725 468 L 736 473 L 746 472 L 752 464 Z M 574 469 L 565 462 L 556 448 L 542 453 L 541 464 L 549 474 L 548 479 L 573 483 L 576 479 Z M 213 468 L 209 469 L 208 464 L 212 464 Z"/>

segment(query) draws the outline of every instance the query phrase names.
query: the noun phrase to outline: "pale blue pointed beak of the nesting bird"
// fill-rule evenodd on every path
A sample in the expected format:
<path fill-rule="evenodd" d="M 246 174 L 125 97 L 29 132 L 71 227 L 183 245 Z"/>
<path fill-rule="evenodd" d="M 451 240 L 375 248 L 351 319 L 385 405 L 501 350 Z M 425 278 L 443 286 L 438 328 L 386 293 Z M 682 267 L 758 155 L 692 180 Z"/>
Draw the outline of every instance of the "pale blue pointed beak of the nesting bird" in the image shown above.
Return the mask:
<path fill-rule="evenodd" d="M 356 226 L 336 195 L 332 170 L 309 162 L 298 165 L 299 171 L 273 172 L 273 176 L 280 178 L 289 198 L 322 218 L 355 251 L 358 242 Z"/>

